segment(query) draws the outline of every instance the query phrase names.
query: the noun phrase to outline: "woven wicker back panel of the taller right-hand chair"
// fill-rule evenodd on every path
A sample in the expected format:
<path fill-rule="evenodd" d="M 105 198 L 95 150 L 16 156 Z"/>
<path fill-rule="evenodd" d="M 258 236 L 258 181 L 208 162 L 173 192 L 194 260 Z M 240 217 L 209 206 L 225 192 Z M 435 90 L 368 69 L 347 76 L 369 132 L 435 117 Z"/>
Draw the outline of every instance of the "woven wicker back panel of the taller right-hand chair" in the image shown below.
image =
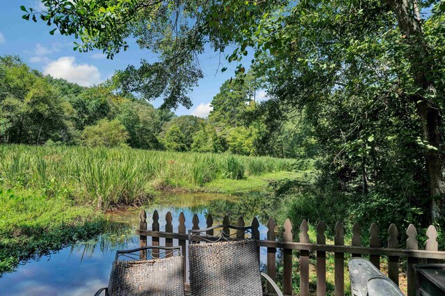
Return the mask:
<path fill-rule="evenodd" d="M 254 240 L 189 244 L 192 296 L 262 296 Z"/>

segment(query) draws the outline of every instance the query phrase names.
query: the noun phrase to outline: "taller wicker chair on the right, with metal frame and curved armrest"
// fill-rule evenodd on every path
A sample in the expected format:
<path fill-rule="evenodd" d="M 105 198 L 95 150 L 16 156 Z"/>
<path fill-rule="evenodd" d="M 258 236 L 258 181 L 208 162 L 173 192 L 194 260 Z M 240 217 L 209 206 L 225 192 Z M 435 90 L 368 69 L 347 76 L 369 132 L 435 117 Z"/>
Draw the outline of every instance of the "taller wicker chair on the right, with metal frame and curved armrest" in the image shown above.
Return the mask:
<path fill-rule="evenodd" d="M 216 229 L 220 229 L 217 235 L 207 234 Z M 231 235 L 230 229 L 236 233 Z M 188 231 L 192 296 L 262 296 L 261 276 L 282 296 L 277 284 L 259 272 L 257 243 L 252 231 L 252 227 L 231 225 Z"/>

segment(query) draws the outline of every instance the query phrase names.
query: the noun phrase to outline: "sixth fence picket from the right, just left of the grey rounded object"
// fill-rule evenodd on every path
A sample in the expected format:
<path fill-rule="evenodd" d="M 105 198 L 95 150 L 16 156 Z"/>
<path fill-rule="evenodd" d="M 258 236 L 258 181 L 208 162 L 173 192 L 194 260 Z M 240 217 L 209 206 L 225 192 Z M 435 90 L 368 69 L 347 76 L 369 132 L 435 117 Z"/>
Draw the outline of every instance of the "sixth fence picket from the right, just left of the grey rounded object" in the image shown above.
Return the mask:
<path fill-rule="evenodd" d="M 337 222 L 335 225 L 334 244 L 337 246 L 343 246 L 345 244 L 344 228 L 341 222 Z M 334 253 L 334 294 L 335 296 L 345 295 L 345 254 Z"/>

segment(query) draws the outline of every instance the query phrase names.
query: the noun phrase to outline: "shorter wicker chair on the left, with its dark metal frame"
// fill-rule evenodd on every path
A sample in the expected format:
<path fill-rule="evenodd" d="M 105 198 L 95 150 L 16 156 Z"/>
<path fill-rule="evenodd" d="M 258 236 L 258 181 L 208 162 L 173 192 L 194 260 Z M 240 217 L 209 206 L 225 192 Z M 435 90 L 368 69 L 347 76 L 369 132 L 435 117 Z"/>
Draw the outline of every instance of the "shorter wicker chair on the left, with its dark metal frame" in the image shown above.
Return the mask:
<path fill-rule="evenodd" d="M 181 247 L 152 246 L 117 251 L 108 288 L 99 289 L 95 296 L 103 291 L 106 296 L 184 296 L 184 257 L 181 254 Z M 154 256 L 156 258 L 152 258 Z"/>

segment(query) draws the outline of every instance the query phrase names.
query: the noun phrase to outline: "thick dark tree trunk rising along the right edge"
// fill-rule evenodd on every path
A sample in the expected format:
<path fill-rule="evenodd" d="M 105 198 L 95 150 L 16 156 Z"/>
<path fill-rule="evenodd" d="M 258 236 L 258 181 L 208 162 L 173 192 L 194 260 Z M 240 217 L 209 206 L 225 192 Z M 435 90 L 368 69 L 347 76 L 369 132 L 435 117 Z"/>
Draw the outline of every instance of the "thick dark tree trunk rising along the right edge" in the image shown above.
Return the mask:
<path fill-rule="evenodd" d="M 426 152 L 426 170 L 428 173 L 429 192 L 432 198 L 431 218 L 437 221 L 443 212 L 443 198 L 445 196 L 445 180 L 443 173 L 445 169 L 444 139 L 442 137 L 442 115 L 436 102 L 425 98 L 426 93 L 435 93 L 435 86 L 428 81 L 427 73 L 432 69 L 429 59 L 428 45 L 423 38 L 422 26 L 418 15 L 413 13 L 416 10 L 415 0 L 387 0 L 398 20 L 398 27 L 401 30 L 409 49 L 407 57 L 411 61 L 411 72 L 416 86 L 421 88 L 421 92 L 412 96 L 417 102 L 417 110 L 422 120 L 423 139 L 428 141 L 430 146 L 437 150 L 428 148 Z M 415 12 L 415 11 L 414 11 Z M 415 17 L 416 16 L 416 17 Z"/>

